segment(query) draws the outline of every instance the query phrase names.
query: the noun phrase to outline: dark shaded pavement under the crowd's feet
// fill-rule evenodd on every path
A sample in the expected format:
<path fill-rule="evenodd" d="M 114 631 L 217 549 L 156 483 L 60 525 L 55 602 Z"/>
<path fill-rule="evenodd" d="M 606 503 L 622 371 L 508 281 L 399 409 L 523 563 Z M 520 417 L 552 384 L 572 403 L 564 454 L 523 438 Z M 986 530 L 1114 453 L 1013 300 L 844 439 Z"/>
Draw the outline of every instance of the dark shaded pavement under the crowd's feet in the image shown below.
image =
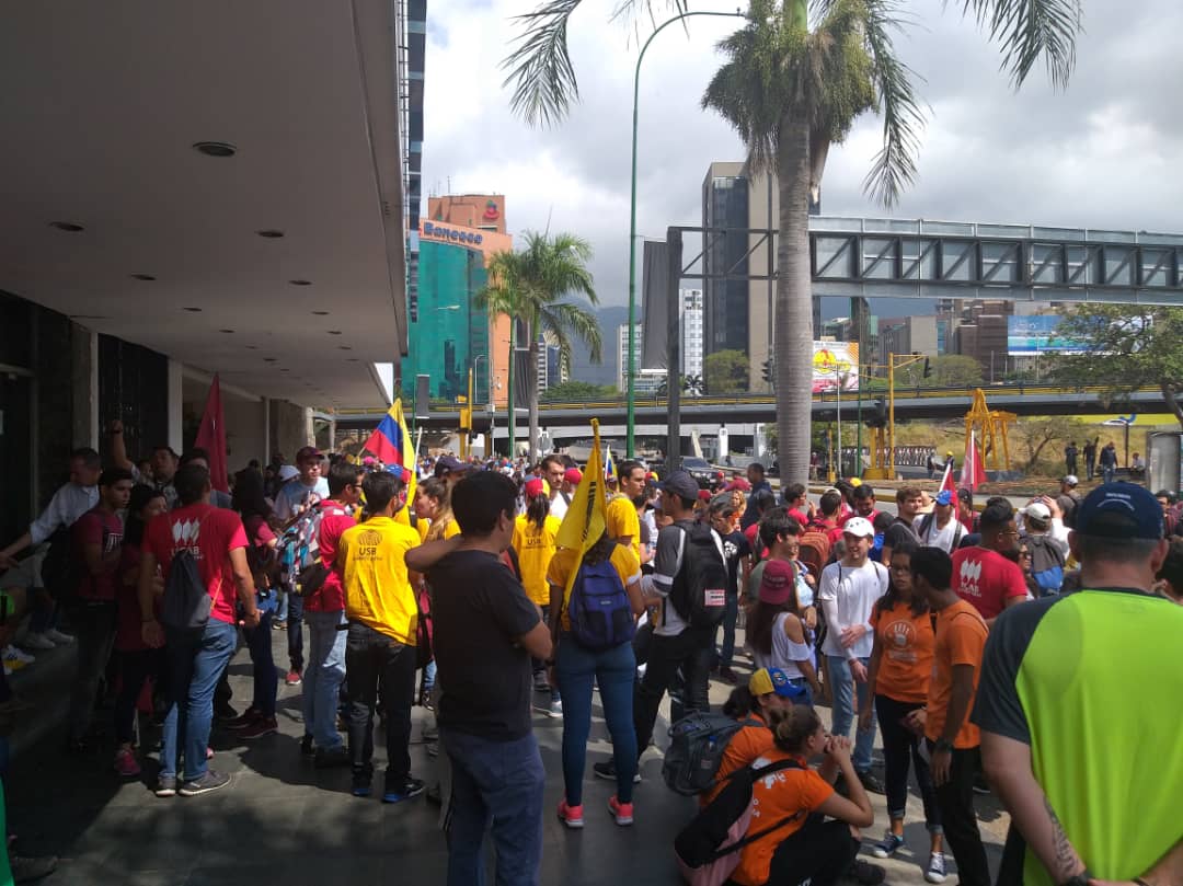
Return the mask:
<path fill-rule="evenodd" d="M 285 662 L 285 634 L 276 633 L 274 651 L 276 661 Z M 748 670 L 746 659 L 741 658 L 737 671 L 746 674 Z M 250 659 L 243 648 L 231 665 L 233 704 L 239 710 L 250 701 Z M 712 681 L 712 703 L 720 704 L 729 691 L 729 686 Z M 348 770 L 315 770 L 299 755 L 300 687 L 280 683 L 279 693 L 279 735 L 243 742 L 215 732 L 212 765 L 233 774 L 234 781 L 199 797 L 155 797 L 149 790 L 156 769 L 153 762 L 146 764 L 142 781 L 121 783 L 110 769 L 106 750 L 66 757 L 60 750 L 63 736 L 46 738 L 22 755 L 5 780 L 17 851 L 62 858 L 58 871 L 44 880 L 49 886 L 445 882 L 447 855 L 437 827 L 438 807 L 425 796 L 395 806 L 384 806 L 377 796 L 360 800 L 349 794 Z M 541 693 L 536 698 L 545 700 Z M 819 711 L 828 723 L 828 709 Z M 672 843 L 696 803 L 661 782 L 660 751 L 649 749 L 642 759 L 645 781 L 635 796 L 636 823 L 618 827 L 607 810 L 614 785 L 592 777 L 590 764 L 609 756 L 596 697 L 584 790 L 587 826 L 581 832 L 568 830 L 554 815 L 563 790 L 562 720 L 541 711 L 536 714 L 535 731 L 548 774 L 541 881 L 567 886 L 680 882 Z M 425 716 L 422 709 L 414 709 L 412 759 L 415 775 L 431 783 L 435 764 L 421 738 Z M 661 716 L 658 733 L 664 738 L 668 701 Z M 376 744 L 381 774 L 381 737 Z M 877 742 L 877 757 L 878 748 Z M 871 843 L 887 823 L 884 797 L 872 795 L 872 802 L 875 823 L 864 835 L 864 856 L 868 859 Z M 978 796 L 977 808 L 996 869 L 1007 815 L 993 796 Z M 927 836 L 914 789 L 909 798 L 906 836 L 909 848 L 899 859 L 885 862 L 887 882 L 924 882 L 920 865 L 927 858 Z M 951 858 L 949 865 L 955 867 Z"/>

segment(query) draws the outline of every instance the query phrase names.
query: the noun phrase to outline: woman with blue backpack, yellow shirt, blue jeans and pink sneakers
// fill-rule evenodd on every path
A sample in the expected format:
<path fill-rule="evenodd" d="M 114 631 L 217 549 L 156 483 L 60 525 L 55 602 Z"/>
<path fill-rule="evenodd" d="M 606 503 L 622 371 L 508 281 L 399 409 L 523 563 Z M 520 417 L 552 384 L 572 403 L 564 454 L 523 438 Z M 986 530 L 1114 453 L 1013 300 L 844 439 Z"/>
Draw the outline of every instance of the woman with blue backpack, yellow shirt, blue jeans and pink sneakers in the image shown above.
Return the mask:
<path fill-rule="evenodd" d="M 636 730 L 633 726 L 633 684 L 636 680 L 636 658 L 632 634 L 619 644 L 603 649 L 592 649 L 580 642 L 571 625 L 571 594 L 583 577 L 571 573 L 609 564 L 613 575 L 597 578 L 616 580 L 620 593 L 627 595 L 633 620 L 645 612 L 641 594 L 641 563 L 631 544 L 616 544 L 605 532 L 578 558 L 574 548 L 563 548 L 550 561 L 547 580 L 550 582 L 550 632 L 555 642 L 555 675 L 563 693 L 563 783 L 565 794 L 558 804 L 558 817 L 569 828 L 583 827 L 583 771 L 587 767 L 588 735 L 592 730 L 592 687 L 600 687 L 603 717 L 612 736 L 616 770 L 616 794 L 608 800 L 608 809 L 616 823 L 633 823 L 633 775 L 636 772 Z M 596 570 L 605 574 L 607 570 Z M 568 584 L 571 591 L 568 591 Z M 605 599 L 605 597 L 600 597 Z M 619 600 L 619 597 L 618 597 Z M 625 632 L 628 633 L 628 632 Z"/>

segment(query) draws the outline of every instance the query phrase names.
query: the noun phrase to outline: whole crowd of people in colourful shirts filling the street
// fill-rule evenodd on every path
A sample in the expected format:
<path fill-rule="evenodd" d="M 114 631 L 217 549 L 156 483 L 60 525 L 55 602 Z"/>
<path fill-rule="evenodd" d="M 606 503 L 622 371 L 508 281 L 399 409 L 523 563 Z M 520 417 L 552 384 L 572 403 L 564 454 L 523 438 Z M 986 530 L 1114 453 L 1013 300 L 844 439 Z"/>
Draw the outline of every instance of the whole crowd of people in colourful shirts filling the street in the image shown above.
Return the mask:
<path fill-rule="evenodd" d="M 905 485 L 892 515 L 858 480 L 816 504 L 802 484 L 777 497 L 759 464 L 702 489 L 634 460 L 590 477 L 561 454 L 403 467 L 311 446 L 215 490 L 208 453 L 162 446 L 136 464 L 122 427 L 109 431 L 112 465 L 73 452 L 70 481 L 0 550 L 0 630 L 34 652 L 77 645 L 69 752 L 109 732 L 115 774 L 142 778 L 141 724 L 156 719 L 159 797 L 231 783 L 211 765 L 215 719 L 244 742 L 278 730 L 283 628 L 300 752 L 348 768 L 369 797 L 381 718 L 376 793 L 440 803 L 457 886 L 484 881 L 489 836 L 498 882 L 538 882 L 535 709 L 562 719 L 558 820 L 595 827 L 583 782 L 599 696 L 613 751 L 592 770 L 615 787 L 608 820 L 628 827 L 662 700 L 675 724 L 709 716 L 712 679 L 733 686 L 722 713 L 735 725 L 712 738 L 699 815 L 718 816 L 748 774 L 745 817 L 717 847 L 731 882 L 883 881 L 858 855 L 868 794 L 888 811 L 870 854 L 894 856 L 910 778 L 930 882 L 945 880 L 946 848 L 962 884 L 991 881 L 975 813 L 985 784 L 1014 822 L 1000 884 L 1181 882 L 1183 754 L 1153 713 L 1183 690 L 1170 492 L 1110 483 L 1081 498 L 1069 474 L 1016 511 Z M 564 547 L 568 515 L 597 536 Z M 241 712 L 226 678 L 240 636 L 253 674 Z M 5 673 L 20 660 L 6 653 Z M 0 679 L 0 713 L 19 705 Z M 412 771 L 415 705 L 431 712 L 431 780 Z"/>

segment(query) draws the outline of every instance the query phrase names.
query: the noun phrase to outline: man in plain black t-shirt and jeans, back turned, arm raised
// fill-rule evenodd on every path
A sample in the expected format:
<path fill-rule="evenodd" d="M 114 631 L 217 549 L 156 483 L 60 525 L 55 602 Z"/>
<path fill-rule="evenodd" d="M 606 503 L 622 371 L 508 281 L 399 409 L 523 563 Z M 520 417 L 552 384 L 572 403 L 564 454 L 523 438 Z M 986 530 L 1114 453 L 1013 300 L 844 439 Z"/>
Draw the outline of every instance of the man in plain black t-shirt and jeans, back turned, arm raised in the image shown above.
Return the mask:
<path fill-rule="evenodd" d="M 513 537 L 516 494 L 499 473 L 465 477 L 452 490 L 461 535 L 450 539 L 451 552 L 434 564 L 407 560 L 426 569 L 433 591 L 440 739 L 452 764 L 448 886 L 484 881 L 490 821 L 498 822 L 498 882 L 537 884 L 542 862 L 545 771 L 530 719 L 530 657 L 549 659 L 551 642 L 500 558 Z"/>

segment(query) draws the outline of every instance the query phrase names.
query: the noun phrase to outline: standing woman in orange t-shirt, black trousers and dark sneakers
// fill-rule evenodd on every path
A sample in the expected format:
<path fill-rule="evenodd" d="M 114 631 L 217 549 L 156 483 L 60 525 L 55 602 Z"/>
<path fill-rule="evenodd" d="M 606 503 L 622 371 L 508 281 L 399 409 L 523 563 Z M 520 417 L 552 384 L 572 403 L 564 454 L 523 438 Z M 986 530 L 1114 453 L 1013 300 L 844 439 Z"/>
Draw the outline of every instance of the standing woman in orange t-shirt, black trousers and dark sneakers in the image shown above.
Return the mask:
<path fill-rule="evenodd" d="M 911 756 L 916 782 L 924 801 L 924 820 L 931 840 L 924 879 L 944 882 L 945 856 L 943 830 L 937 808 L 937 793 L 929 762 L 920 754 L 920 738 L 904 725 L 914 710 L 923 709 L 929 694 L 936 633 L 932 613 L 920 594 L 912 589 L 912 554 L 916 545 L 892 549 L 891 583 L 871 613 L 875 642 L 871 651 L 867 691 L 875 699 L 879 732 L 884 742 L 884 782 L 887 816 L 891 827 L 875 843 L 872 854 L 879 859 L 894 855 L 904 846 L 904 808 L 907 804 L 907 768 Z M 859 727 L 871 725 L 871 709 L 859 714 Z"/>

